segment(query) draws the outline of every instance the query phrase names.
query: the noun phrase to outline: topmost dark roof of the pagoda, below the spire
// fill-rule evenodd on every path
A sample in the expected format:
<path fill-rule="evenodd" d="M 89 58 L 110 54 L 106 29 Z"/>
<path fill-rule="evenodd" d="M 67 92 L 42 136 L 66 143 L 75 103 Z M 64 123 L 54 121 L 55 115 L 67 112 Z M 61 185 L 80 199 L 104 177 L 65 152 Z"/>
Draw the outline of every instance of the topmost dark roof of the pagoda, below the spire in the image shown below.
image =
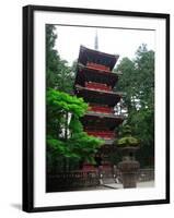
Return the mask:
<path fill-rule="evenodd" d="M 78 62 L 82 63 L 83 65 L 86 65 L 88 62 L 102 64 L 108 66 L 112 71 L 118 58 L 119 56 L 117 55 L 109 55 L 102 51 L 89 49 L 84 46 L 80 46 Z"/>

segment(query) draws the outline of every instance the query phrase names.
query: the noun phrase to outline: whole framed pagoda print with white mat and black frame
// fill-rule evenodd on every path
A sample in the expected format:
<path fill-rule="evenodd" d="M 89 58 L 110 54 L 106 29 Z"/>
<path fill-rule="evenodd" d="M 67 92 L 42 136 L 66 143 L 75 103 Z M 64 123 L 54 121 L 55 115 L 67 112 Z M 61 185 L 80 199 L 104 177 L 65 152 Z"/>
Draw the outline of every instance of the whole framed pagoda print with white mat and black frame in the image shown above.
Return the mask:
<path fill-rule="evenodd" d="M 170 203 L 170 15 L 23 8 L 23 210 Z"/>

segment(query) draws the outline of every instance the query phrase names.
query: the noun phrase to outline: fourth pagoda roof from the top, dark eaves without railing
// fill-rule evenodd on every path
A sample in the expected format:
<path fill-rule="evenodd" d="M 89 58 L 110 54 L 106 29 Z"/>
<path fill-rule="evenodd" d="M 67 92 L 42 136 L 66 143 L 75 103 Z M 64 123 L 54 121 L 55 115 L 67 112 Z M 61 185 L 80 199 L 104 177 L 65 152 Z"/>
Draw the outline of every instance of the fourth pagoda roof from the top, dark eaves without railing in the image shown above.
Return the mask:
<path fill-rule="evenodd" d="M 105 116 L 105 114 L 96 114 L 93 112 L 88 112 L 81 118 L 82 124 L 86 128 L 92 129 L 96 128 L 101 129 L 104 126 L 106 130 L 113 131 L 116 126 L 118 126 L 124 121 L 124 116 Z"/>

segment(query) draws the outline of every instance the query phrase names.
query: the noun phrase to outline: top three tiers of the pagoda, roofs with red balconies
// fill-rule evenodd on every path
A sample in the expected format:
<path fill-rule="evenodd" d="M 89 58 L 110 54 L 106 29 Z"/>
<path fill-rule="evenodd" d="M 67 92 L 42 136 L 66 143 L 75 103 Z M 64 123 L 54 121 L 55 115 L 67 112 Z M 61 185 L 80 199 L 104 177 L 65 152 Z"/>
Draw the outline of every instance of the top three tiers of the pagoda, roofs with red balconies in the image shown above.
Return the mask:
<path fill-rule="evenodd" d="M 74 93 L 93 111 L 114 113 L 113 108 L 121 98 L 121 93 L 113 92 L 118 75 L 112 70 L 117 60 L 118 56 L 80 47 Z"/>

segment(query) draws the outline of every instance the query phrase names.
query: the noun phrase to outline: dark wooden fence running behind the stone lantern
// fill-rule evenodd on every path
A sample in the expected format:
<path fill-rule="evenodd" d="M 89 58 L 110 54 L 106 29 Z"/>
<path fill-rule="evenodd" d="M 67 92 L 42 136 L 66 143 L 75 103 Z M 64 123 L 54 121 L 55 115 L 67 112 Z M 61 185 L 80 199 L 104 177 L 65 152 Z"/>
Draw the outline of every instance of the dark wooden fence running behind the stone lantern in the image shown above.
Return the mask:
<path fill-rule="evenodd" d="M 154 180 L 154 169 L 140 169 L 138 181 Z M 101 184 L 121 182 L 121 173 L 115 169 L 78 170 L 47 175 L 47 192 L 72 191 L 83 187 L 96 187 Z"/>

